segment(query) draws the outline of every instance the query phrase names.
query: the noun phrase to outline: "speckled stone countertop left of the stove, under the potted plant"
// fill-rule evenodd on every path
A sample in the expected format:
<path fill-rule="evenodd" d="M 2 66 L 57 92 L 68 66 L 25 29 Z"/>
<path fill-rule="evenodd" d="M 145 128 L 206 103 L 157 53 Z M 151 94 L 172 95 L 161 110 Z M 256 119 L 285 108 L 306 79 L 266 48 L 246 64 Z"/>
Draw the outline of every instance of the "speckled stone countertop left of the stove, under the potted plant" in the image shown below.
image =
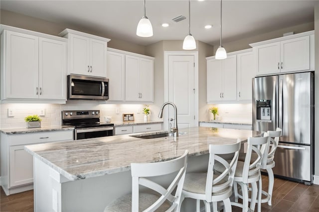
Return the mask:
<path fill-rule="evenodd" d="M 35 132 L 50 132 L 50 131 L 62 131 L 62 130 L 72 130 L 74 127 L 69 126 L 41 126 L 37 128 L 7 128 L 0 129 L 2 133 L 5 134 L 25 134 L 25 133 L 35 133 Z"/>

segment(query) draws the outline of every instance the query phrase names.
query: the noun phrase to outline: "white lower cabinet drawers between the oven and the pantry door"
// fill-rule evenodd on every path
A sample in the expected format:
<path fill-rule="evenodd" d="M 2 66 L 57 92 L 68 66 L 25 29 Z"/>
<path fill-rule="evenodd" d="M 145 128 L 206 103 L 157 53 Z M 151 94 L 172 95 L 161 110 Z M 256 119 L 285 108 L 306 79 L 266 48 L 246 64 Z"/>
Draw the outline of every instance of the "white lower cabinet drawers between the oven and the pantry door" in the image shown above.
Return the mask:
<path fill-rule="evenodd" d="M 116 126 L 115 135 L 162 130 L 162 123 Z"/>

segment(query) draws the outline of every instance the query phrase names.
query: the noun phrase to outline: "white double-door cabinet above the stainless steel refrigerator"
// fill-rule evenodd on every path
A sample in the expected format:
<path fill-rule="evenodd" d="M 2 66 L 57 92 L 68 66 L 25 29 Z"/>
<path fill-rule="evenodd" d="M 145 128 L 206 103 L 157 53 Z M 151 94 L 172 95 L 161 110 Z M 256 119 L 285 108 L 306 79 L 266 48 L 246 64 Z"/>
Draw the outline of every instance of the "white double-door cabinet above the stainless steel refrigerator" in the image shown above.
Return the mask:
<path fill-rule="evenodd" d="M 315 70 L 314 31 L 250 45 L 256 75 Z"/>

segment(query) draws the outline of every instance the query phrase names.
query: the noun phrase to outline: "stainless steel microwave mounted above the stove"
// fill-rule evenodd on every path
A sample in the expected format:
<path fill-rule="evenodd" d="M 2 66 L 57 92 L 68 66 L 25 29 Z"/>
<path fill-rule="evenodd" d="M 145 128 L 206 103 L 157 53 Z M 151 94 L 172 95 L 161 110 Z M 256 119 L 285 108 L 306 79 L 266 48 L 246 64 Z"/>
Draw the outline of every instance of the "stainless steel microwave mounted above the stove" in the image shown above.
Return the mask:
<path fill-rule="evenodd" d="M 68 75 L 68 100 L 108 100 L 109 79 Z"/>

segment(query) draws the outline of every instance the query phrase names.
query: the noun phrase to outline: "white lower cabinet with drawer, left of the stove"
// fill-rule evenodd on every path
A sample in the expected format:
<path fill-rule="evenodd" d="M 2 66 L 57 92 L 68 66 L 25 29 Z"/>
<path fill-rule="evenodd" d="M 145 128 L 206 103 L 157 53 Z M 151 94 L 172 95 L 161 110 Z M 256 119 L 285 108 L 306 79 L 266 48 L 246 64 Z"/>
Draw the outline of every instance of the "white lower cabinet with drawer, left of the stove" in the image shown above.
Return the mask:
<path fill-rule="evenodd" d="M 33 156 L 25 145 L 73 140 L 73 130 L 1 133 L 1 186 L 6 195 L 33 189 Z"/>

